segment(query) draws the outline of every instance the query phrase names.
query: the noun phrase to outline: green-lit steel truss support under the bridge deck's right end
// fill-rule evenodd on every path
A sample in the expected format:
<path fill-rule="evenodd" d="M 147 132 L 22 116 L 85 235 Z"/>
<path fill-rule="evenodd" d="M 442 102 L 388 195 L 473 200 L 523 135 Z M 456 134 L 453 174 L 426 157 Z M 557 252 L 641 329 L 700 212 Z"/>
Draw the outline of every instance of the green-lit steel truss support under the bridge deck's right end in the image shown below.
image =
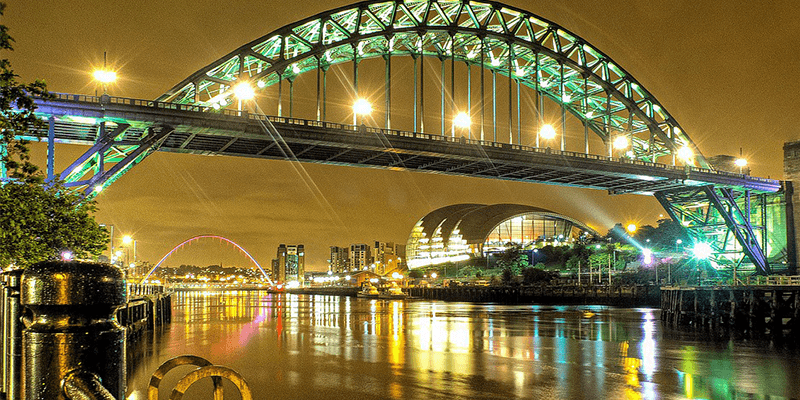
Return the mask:
<path fill-rule="evenodd" d="M 768 258 L 768 203 L 776 194 L 707 185 L 654 193 L 669 216 L 680 222 L 694 244 L 712 249 L 717 268 L 738 267 L 745 257 L 757 274 L 772 273 Z M 755 205 L 755 207 L 754 207 Z M 754 221 L 752 217 L 756 217 Z"/>

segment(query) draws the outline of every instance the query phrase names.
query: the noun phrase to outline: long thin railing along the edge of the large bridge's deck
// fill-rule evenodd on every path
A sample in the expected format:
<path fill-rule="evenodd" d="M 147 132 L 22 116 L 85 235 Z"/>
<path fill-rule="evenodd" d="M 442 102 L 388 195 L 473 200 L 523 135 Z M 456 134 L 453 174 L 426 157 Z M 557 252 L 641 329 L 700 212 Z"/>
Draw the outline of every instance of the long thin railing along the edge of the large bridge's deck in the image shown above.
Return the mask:
<path fill-rule="evenodd" d="M 177 110 L 177 111 L 190 111 L 190 112 L 208 112 L 209 110 L 213 110 L 211 107 L 207 106 L 198 106 L 198 105 L 191 105 L 191 104 L 178 104 L 178 103 L 168 103 L 168 102 L 161 102 L 155 100 L 142 100 L 142 99 L 133 99 L 127 97 L 117 97 L 117 96 L 91 96 L 91 95 L 82 95 L 82 94 L 69 94 L 69 93 L 52 93 L 57 100 L 62 101 L 70 101 L 70 102 L 82 102 L 82 103 L 94 103 L 94 104 L 120 104 L 120 105 L 131 105 L 131 106 L 139 106 L 139 107 L 150 107 L 150 108 L 159 108 L 165 110 Z M 509 144 L 509 143 L 502 143 L 502 142 L 493 142 L 488 140 L 479 140 L 479 139 L 468 139 L 464 137 L 450 137 L 444 135 L 436 135 L 436 134 L 428 134 L 428 133 L 420 133 L 420 132 L 410 132 L 404 130 L 396 130 L 396 129 L 384 129 L 384 128 L 375 128 L 375 127 L 362 127 L 359 125 L 348 125 L 348 124 L 339 124 L 335 122 L 325 122 L 325 121 L 317 121 L 317 120 L 306 120 L 300 118 L 287 118 L 287 117 L 277 117 L 277 116 L 268 116 L 264 114 L 255 114 L 248 111 L 238 111 L 238 110 L 229 110 L 229 109 L 220 109 L 220 110 L 213 110 L 214 114 L 224 115 L 229 117 L 239 117 L 239 118 L 247 118 L 249 120 L 256 120 L 256 121 L 270 121 L 274 123 L 280 124 L 289 124 L 289 125 L 299 125 L 299 126 L 308 126 L 314 128 L 324 128 L 324 129 L 333 129 L 338 131 L 361 131 L 367 133 L 374 133 L 380 135 L 391 135 L 391 136 L 401 136 L 401 137 L 413 137 L 417 139 L 427 139 L 427 140 L 436 140 L 436 141 L 444 141 L 444 142 L 451 142 L 451 143 L 461 143 L 461 144 L 471 144 L 471 145 L 479 145 L 485 147 L 495 147 L 495 148 L 504 148 L 504 149 L 513 149 L 513 150 L 520 150 L 526 152 L 533 152 L 533 153 L 540 153 L 540 154 L 553 154 L 553 155 L 562 155 L 562 156 L 569 156 L 569 157 L 577 157 L 577 158 L 585 158 L 591 160 L 600 160 L 600 161 L 609 161 L 609 162 L 618 162 L 621 164 L 633 164 L 633 165 L 641 165 L 646 167 L 654 167 L 660 168 L 664 170 L 673 170 L 673 171 L 685 171 L 685 172 L 698 172 L 698 173 L 705 173 L 705 174 L 714 174 L 718 176 L 729 176 L 732 178 L 738 179 L 750 179 L 756 182 L 763 182 L 763 183 L 774 183 L 777 184 L 778 181 L 774 179 L 768 178 L 760 178 L 755 176 L 750 176 L 746 174 L 738 174 L 735 172 L 728 172 L 728 171 L 718 171 L 708 168 L 698 168 L 693 167 L 690 165 L 686 166 L 677 166 L 677 165 L 670 165 L 670 164 L 663 164 L 657 162 L 649 162 L 649 161 L 642 161 L 642 160 L 635 160 L 629 158 L 622 158 L 622 157 L 609 157 L 597 154 L 586 154 L 586 153 L 579 153 L 574 151 L 561 151 L 551 148 L 541 148 L 541 147 L 531 147 L 531 146 L 524 146 L 519 144 Z"/>

